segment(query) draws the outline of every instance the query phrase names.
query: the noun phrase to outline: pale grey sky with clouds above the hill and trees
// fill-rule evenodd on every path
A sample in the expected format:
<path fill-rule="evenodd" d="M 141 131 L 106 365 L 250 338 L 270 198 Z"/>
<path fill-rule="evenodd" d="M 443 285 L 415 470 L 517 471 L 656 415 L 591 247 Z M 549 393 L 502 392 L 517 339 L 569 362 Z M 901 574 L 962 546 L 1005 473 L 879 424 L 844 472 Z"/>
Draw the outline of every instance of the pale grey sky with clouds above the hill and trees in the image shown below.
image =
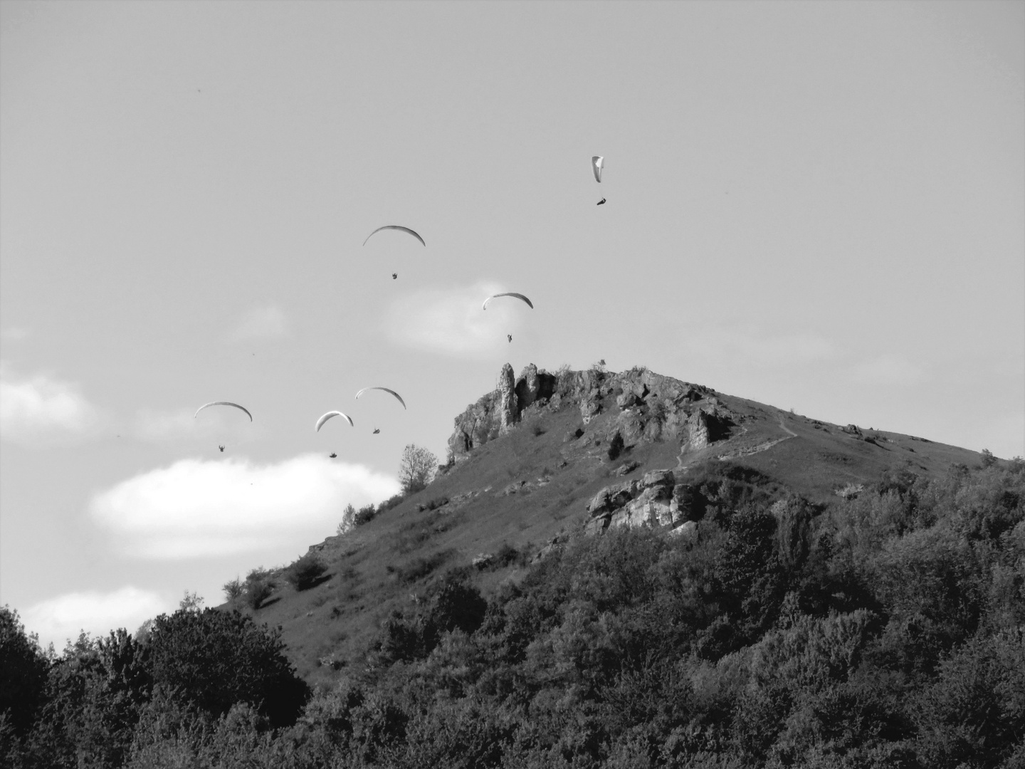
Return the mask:
<path fill-rule="evenodd" d="M 506 362 L 1025 454 L 1023 41 L 985 0 L 3 0 L 0 604 L 58 649 L 217 605 Z"/>

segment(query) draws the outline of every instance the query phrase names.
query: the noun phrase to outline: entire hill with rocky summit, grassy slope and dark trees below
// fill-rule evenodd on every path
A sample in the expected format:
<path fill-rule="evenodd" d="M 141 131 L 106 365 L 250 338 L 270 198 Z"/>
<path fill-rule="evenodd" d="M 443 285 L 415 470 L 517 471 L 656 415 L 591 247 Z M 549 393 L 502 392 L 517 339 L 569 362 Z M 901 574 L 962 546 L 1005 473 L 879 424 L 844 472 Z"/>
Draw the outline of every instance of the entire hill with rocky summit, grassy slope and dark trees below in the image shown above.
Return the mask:
<path fill-rule="evenodd" d="M 0 763 L 1025 765 L 1020 457 L 645 369 L 506 366 L 454 428 L 227 606 L 59 657 L 0 609 Z"/>

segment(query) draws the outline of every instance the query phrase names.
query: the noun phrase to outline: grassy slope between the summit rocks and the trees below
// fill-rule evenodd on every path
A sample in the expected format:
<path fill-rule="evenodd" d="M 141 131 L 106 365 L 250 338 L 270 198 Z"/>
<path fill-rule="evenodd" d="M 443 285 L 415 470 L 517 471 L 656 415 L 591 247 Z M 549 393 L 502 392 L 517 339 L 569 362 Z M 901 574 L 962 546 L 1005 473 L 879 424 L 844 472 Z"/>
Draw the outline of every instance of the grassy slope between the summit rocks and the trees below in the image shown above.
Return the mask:
<path fill-rule="evenodd" d="M 594 493 L 646 470 L 671 468 L 678 480 L 721 457 L 753 468 L 776 484 L 819 503 L 837 500 L 848 483 L 871 484 L 887 468 L 905 462 L 915 472 L 937 474 L 952 462 L 977 463 L 974 451 L 895 433 L 877 433 L 876 443 L 753 401 L 717 396 L 741 415 L 728 440 L 681 455 L 679 441 L 641 444 L 615 462 L 606 455 L 607 431 L 618 409 L 607 398 L 605 413 L 583 426 L 576 406 L 557 412 L 528 411 L 508 436 L 473 451 L 470 457 L 427 489 L 412 495 L 357 530 L 329 537 L 320 552 L 330 578 L 297 593 L 283 580 L 258 619 L 280 624 L 299 674 L 327 684 L 337 674 L 324 660 L 353 660 L 394 608 L 408 608 L 433 574 L 467 565 L 503 542 L 531 553 L 561 531 L 578 531 Z M 578 428 L 580 438 L 571 439 Z M 868 435 L 868 432 L 865 432 Z M 640 467 L 624 478 L 615 469 L 632 459 Z M 547 479 L 546 483 L 538 483 Z M 510 484 L 528 485 L 512 493 Z M 775 485 L 775 484 L 774 484 Z M 448 497 L 437 510 L 417 504 Z M 433 571 L 425 571 L 430 569 Z M 487 594 L 518 569 L 480 572 Z M 248 611 L 248 609 L 247 609 Z"/>

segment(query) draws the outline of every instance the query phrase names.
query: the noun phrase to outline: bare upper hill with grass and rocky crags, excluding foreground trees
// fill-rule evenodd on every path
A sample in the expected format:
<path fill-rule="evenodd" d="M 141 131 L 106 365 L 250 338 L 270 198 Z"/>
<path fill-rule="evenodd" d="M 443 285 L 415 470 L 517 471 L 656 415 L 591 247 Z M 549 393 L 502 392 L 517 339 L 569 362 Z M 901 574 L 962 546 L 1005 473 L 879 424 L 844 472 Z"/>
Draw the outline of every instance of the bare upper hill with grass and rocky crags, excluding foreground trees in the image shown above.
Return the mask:
<path fill-rule="evenodd" d="M 584 531 L 699 532 L 719 509 L 795 496 L 821 514 L 888 471 L 940 477 L 980 461 L 967 449 L 832 424 L 643 368 L 530 365 L 514 377 L 508 364 L 496 390 L 455 418 L 449 450 L 427 488 L 310 549 L 327 566 L 316 588 L 296 591 L 272 574 L 276 589 L 255 615 L 282 626 L 312 684 L 342 676 L 385 618 L 415 606 L 446 569 L 477 562 L 475 583 L 488 596 Z"/>

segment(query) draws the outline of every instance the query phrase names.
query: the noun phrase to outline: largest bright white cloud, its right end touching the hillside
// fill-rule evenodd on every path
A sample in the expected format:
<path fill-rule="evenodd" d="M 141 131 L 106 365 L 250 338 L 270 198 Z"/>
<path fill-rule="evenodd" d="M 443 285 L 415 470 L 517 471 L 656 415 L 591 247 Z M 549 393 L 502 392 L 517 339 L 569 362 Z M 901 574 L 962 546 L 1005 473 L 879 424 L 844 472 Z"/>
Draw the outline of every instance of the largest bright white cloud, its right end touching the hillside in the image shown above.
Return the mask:
<path fill-rule="evenodd" d="M 346 503 L 360 507 L 398 491 L 389 476 L 320 454 L 274 464 L 182 459 L 96 494 L 90 512 L 126 553 L 172 560 L 303 540 L 333 530 Z"/>

